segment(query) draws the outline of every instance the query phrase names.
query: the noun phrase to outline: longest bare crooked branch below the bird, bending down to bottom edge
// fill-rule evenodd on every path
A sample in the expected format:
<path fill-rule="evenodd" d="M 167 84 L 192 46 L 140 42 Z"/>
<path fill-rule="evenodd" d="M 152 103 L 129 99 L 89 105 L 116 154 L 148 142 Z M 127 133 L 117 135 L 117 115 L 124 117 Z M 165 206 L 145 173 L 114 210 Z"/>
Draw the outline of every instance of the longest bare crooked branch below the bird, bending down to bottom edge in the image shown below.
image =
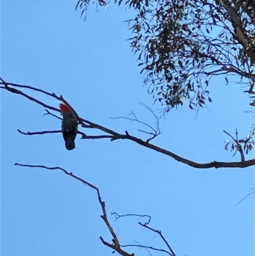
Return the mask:
<path fill-rule="evenodd" d="M 62 172 L 64 172 L 66 175 L 73 177 L 74 179 L 77 179 L 78 181 L 82 182 L 83 184 L 89 186 L 90 188 L 96 190 L 96 193 L 98 195 L 98 201 L 99 204 L 101 206 L 101 209 L 103 211 L 103 215 L 101 215 L 102 220 L 105 222 L 106 227 L 108 228 L 108 230 L 110 231 L 110 233 L 112 234 L 112 244 L 107 243 L 105 240 L 103 240 L 102 237 L 100 237 L 102 243 L 110 248 L 112 248 L 113 250 L 115 250 L 116 252 L 118 252 L 120 255 L 122 256 L 135 256 L 134 253 L 129 254 L 128 252 L 125 252 L 124 250 L 122 250 L 120 248 L 120 243 L 119 243 L 119 239 L 117 237 L 117 235 L 115 234 L 112 225 L 110 225 L 110 222 L 108 221 L 107 218 L 107 214 L 106 214 L 106 209 L 105 209 L 105 202 L 101 199 L 101 195 L 100 195 L 100 191 L 99 188 L 97 188 L 96 186 L 94 186 L 93 184 L 85 181 L 84 179 L 75 176 L 75 174 L 73 174 L 73 172 L 68 172 L 67 170 L 61 168 L 61 167 L 47 167 L 45 165 L 23 165 L 21 163 L 15 163 L 15 165 L 21 166 L 21 167 L 31 167 L 31 168 L 43 168 L 43 169 L 47 169 L 47 170 L 62 170 Z"/>

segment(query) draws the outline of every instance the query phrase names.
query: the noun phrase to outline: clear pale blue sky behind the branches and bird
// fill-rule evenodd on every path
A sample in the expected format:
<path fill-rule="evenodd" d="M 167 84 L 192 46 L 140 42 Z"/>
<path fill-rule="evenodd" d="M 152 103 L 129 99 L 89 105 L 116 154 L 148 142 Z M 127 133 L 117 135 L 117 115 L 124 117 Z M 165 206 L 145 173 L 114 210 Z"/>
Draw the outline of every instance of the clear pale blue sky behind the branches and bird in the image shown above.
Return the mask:
<path fill-rule="evenodd" d="M 87 20 L 75 11 L 76 0 L 2 1 L 1 76 L 7 82 L 62 94 L 78 114 L 116 132 L 147 139 L 137 124 L 110 117 L 131 110 L 146 123 L 153 109 L 143 87 L 132 36 L 124 20 L 132 11 L 113 3 L 91 4 Z M 229 78 L 231 81 L 231 77 Z M 233 81 L 233 79 L 232 79 Z M 245 88 L 226 86 L 218 77 L 210 86 L 212 103 L 198 115 L 184 105 L 161 119 L 162 134 L 152 143 L 195 162 L 240 161 L 224 149 L 238 129 L 245 137 L 254 123 Z M 59 102 L 33 93 L 43 102 Z M 101 220 L 96 193 L 59 170 L 17 167 L 15 162 L 59 166 L 98 186 L 110 222 L 122 245 L 166 249 L 163 241 L 140 227 L 140 218 L 115 222 L 111 212 L 152 216 L 180 256 L 253 256 L 254 167 L 193 169 L 168 156 L 127 140 L 80 140 L 67 151 L 61 133 L 25 136 L 17 132 L 59 130 L 61 122 L 43 116 L 45 109 L 17 94 L 1 90 L 1 251 L 3 256 L 112 255 L 99 236 L 112 237 Z M 101 132 L 84 130 L 87 135 Z M 254 151 L 247 160 L 254 158 Z M 128 248 L 129 253 L 149 255 Z M 157 252 L 152 252 L 158 255 Z"/>

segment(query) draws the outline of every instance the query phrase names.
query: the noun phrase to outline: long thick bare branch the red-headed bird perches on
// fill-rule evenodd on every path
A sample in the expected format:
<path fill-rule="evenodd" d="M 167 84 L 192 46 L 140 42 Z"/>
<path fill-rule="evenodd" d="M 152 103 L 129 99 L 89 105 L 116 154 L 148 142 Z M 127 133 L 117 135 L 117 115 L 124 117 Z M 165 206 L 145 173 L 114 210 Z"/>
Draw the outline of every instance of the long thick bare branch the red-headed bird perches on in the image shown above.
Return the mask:
<path fill-rule="evenodd" d="M 3 81 L 3 79 L 2 79 L 2 81 Z M 29 96 L 25 93 L 22 93 L 22 91 L 18 91 L 15 88 L 9 87 L 9 86 L 16 86 L 16 87 L 24 87 L 24 86 L 20 86 L 20 85 L 17 85 L 17 84 L 10 84 L 10 83 L 6 83 L 6 82 L 0 82 L 0 84 L 3 84 L 3 86 L 0 86 L 1 89 L 6 89 L 7 91 L 10 91 L 11 93 L 20 94 L 20 95 L 24 96 L 25 98 L 28 98 L 29 100 L 31 100 L 33 102 L 36 102 L 36 103 L 42 105 L 43 107 L 46 107 L 47 109 L 51 109 L 51 110 L 55 110 L 57 112 L 60 112 L 60 110 L 56 109 L 55 107 L 52 107 L 52 106 L 47 105 L 43 102 L 40 102 L 40 100 L 37 100 L 36 98 L 33 98 L 33 97 L 31 97 L 31 96 Z M 30 86 L 25 87 L 25 88 L 30 89 Z M 34 90 L 40 91 L 41 93 L 45 93 L 48 96 L 51 96 L 51 97 L 53 97 L 57 100 L 61 100 L 63 103 L 66 103 L 73 110 L 73 113 L 75 114 L 75 116 L 78 119 L 78 123 L 82 127 L 84 127 L 84 128 L 94 128 L 94 129 L 97 129 L 97 130 L 101 130 L 102 132 L 108 133 L 108 135 L 88 136 L 88 135 L 85 135 L 85 133 L 79 132 L 80 134 L 82 134 L 82 139 L 104 139 L 104 138 L 108 138 L 108 139 L 111 139 L 112 141 L 117 140 L 117 139 L 132 140 L 133 142 L 135 142 L 135 143 L 137 143 L 137 144 L 139 144 L 143 147 L 147 147 L 147 148 L 152 149 L 154 151 L 157 151 L 159 153 L 166 154 L 167 156 L 170 156 L 171 158 L 177 160 L 178 162 L 185 163 L 186 165 L 189 165 L 191 167 L 198 168 L 198 169 L 245 168 L 245 167 L 255 165 L 255 159 L 247 160 L 247 161 L 244 160 L 244 161 L 241 161 L 241 162 L 216 162 L 216 161 L 213 161 L 213 162 L 210 162 L 210 163 L 196 163 L 196 162 L 193 162 L 191 160 L 187 160 L 186 158 L 182 158 L 181 156 L 178 156 L 177 154 L 172 153 L 171 151 L 163 149 L 162 147 L 158 147 L 158 146 L 155 146 L 153 144 L 150 144 L 148 140 L 145 141 L 145 140 L 142 140 L 142 139 L 138 139 L 137 137 L 134 137 L 132 135 L 129 135 L 129 133 L 127 131 L 125 132 L 125 134 L 120 134 L 120 133 L 117 133 L 113 130 L 110 130 L 110 129 L 104 127 L 104 126 L 101 126 L 101 125 L 96 124 L 96 123 L 92 123 L 91 121 L 89 121 L 87 119 L 79 117 L 77 112 L 73 109 L 73 107 L 71 107 L 71 105 L 68 102 L 66 102 L 66 100 L 64 100 L 64 98 L 62 96 L 56 96 L 54 93 L 47 93 L 47 92 L 45 92 L 43 90 L 40 90 L 40 89 L 34 89 Z"/>

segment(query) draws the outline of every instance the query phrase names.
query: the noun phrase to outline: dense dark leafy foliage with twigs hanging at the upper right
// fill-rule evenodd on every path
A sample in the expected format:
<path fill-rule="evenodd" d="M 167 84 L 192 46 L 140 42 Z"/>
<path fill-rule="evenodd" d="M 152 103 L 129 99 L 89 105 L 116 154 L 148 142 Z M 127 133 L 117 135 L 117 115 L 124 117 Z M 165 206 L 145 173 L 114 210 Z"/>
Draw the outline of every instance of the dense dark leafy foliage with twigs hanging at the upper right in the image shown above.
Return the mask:
<path fill-rule="evenodd" d="M 78 3 L 81 9 L 87 8 L 89 0 Z M 115 3 L 120 5 L 122 0 Z M 184 101 L 189 102 L 191 109 L 211 102 L 208 86 L 215 75 L 224 75 L 226 84 L 228 75 L 238 75 L 239 82 L 245 79 L 249 87 L 246 92 L 255 94 L 253 0 L 123 3 L 137 11 L 127 22 L 133 33 L 129 41 L 138 55 L 143 82 L 166 112 Z"/>

